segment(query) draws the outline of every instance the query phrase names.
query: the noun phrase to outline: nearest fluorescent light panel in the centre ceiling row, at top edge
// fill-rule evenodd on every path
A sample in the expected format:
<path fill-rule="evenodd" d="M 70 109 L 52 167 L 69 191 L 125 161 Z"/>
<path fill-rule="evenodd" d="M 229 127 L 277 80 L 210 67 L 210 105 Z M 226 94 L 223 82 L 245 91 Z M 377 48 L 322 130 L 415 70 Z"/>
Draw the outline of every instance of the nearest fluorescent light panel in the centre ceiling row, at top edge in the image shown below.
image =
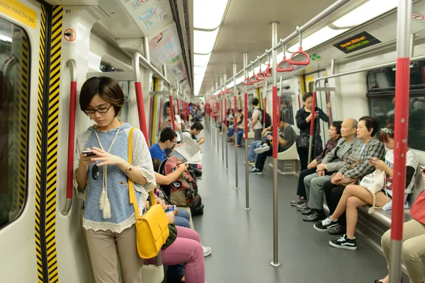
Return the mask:
<path fill-rule="evenodd" d="M 227 6 L 227 0 L 194 0 L 193 28 L 217 28 Z"/>

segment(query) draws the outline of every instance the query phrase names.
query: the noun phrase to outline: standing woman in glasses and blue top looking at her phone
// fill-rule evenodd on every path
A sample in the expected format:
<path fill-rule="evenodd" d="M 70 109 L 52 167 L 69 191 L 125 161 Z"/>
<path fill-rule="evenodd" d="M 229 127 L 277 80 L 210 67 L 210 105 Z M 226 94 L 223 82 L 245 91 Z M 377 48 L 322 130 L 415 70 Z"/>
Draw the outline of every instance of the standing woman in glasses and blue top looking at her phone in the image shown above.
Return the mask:
<path fill-rule="evenodd" d="M 94 281 L 102 283 L 118 282 L 117 258 L 122 281 L 141 282 L 142 260 L 137 253 L 128 178 L 134 182 L 140 204 L 145 203 L 147 192 L 155 184 L 152 159 L 140 129 L 133 132 L 133 162 L 128 163 L 132 126 L 117 119 L 123 103 L 124 93 L 113 79 L 94 77 L 81 87 L 80 108 L 96 125 L 77 138 L 74 187 L 85 200 L 82 226 L 86 229 Z M 84 150 L 94 155 L 82 154 Z M 139 207 L 142 214 L 144 207 Z"/>

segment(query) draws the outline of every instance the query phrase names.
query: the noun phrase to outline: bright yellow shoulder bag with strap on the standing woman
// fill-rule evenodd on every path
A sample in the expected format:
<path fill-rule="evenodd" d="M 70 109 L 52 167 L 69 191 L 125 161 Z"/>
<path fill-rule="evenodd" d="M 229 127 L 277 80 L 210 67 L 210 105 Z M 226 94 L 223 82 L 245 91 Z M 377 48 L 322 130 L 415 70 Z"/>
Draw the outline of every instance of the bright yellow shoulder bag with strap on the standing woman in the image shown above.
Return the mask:
<path fill-rule="evenodd" d="M 134 129 L 130 129 L 130 134 L 128 135 L 128 163 L 130 164 L 132 163 L 132 132 Z M 137 252 L 140 258 L 145 259 L 156 257 L 169 237 L 169 221 L 166 218 L 164 209 L 160 204 L 155 203 L 153 191 L 150 191 L 149 195 L 151 198 L 150 208 L 145 214 L 140 216 L 134 184 L 128 178 L 128 196 L 136 215 Z"/>

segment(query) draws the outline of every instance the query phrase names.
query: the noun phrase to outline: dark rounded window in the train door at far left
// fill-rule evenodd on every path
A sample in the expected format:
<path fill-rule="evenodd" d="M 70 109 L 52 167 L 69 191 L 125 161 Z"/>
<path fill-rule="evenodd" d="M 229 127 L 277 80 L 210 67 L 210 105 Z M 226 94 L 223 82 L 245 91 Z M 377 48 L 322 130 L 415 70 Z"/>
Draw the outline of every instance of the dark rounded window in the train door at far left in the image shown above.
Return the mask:
<path fill-rule="evenodd" d="M 25 30 L 0 18 L 0 229 L 27 198 L 29 45 Z"/>

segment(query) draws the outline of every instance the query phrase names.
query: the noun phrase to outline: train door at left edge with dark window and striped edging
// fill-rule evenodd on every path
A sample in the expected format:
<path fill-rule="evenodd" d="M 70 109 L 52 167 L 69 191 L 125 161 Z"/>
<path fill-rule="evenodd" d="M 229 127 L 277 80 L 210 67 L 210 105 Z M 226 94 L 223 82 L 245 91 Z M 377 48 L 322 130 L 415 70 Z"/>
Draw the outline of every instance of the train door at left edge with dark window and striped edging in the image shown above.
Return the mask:
<path fill-rule="evenodd" d="M 55 214 L 56 161 L 47 154 L 55 143 L 47 119 L 56 120 L 57 93 L 46 83 L 52 59 L 45 56 L 46 16 L 52 20 L 32 0 L 0 5 L 1 282 L 57 281 L 55 220 L 48 218 Z M 48 266 L 47 255 L 54 258 Z"/>

